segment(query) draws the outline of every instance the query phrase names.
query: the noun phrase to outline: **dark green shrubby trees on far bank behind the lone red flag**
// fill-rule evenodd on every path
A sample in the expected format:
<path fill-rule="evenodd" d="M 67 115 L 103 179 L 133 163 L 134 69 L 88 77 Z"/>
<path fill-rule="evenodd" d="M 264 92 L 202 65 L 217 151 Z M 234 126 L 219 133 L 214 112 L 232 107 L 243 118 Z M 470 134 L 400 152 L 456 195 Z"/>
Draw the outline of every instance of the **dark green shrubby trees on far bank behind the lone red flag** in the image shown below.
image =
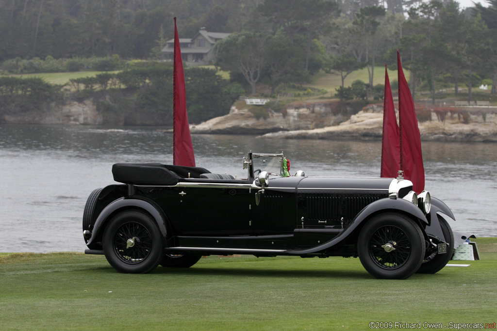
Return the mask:
<path fill-rule="evenodd" d="M 200 123 L 227 114 L 233 102 L 244 92 L 241 84 L 226 82 L 212 69 L 192 67 L 185 69 L 184 74 L 186 109 L 190 123 Z M 172 66 L 157 65 L 133 67 L 116 74 L 102 73 L 92 78 L 72 79 L 71 83 L 81 91 L 80 93 L 84 93 L 94 88 L 106 91 L 110 82 L 115 80 L 115 85 L 120 86 L 120 89 L 107 91 L 113 101 L 109 101 L 109 98 L 100 100 L 99 109 L 105 112 L 119 111 L 114 105 L 119 104 L 120 99 L 128 98 L 119 92 L 122 90 L 126 91 L 126 95 L 130 93 L 134 95 L 133 112 L 155 114 L 154 116 L 159 116 L 164 123 L 170 123 L 173 98 L 172 75 Z"/>

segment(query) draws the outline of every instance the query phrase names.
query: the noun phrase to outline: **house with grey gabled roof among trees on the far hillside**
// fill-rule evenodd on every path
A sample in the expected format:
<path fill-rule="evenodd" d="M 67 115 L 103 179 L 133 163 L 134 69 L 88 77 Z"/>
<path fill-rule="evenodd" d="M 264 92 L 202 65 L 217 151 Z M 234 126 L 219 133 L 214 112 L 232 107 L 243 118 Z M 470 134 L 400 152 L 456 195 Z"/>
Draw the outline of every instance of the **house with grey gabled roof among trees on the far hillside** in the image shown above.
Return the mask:
<path fill-rule="evenodd" d="M 230 33 L 208 32 L 201 28 L 191 39 L 179 38 L 181 58 L 187 66 L 198 66 L 212 63 L 215 59 L 214 46 L 218 41 L 228 37 Z M 174 39 L 168 40 L 162 49 L 163 59 L 173 60 Z"/>

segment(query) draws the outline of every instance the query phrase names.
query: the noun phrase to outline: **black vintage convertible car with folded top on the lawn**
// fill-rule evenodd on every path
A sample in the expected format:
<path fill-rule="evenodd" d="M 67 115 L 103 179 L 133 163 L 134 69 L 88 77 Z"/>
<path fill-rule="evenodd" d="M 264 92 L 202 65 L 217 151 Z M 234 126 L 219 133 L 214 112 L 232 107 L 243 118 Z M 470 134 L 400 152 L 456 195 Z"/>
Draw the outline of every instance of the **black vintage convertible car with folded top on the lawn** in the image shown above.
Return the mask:
<path fill-rule="evenodd" d="M 402 178 L 290 176 L 281 154 L 248 153 L 247 178 L 200 167 L 118 163 L 84 207 L 86 254 L 119 272 L 189 267 L 201 256 L 359 257 L 377 278 L 450 260 L 451 210 Z"/>

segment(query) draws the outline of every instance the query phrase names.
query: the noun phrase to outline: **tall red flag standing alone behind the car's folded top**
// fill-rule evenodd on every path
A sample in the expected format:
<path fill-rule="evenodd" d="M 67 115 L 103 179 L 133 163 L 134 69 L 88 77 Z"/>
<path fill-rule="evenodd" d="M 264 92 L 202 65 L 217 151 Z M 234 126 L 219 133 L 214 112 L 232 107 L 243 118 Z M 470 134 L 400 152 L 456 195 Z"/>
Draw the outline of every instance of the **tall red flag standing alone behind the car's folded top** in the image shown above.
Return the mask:
<path fill-rule="evenodd" d="M 173 69 L 173 126 L 172 162 L 174 165 L 195 166 L 195 155 L 191 142 L 188 114 L 186 114 L 185 77 L 181 48 L 179 47 L 176 17 L 174 17 L 174 69 Z"/>

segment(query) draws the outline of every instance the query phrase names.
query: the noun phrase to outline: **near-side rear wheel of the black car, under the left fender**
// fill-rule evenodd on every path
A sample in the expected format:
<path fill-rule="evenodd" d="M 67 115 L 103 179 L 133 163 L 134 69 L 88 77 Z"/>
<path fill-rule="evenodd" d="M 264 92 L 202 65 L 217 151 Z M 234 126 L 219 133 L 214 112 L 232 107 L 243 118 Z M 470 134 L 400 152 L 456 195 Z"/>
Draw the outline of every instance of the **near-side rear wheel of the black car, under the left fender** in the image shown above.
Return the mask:
<path fill-rule="evenodd" d="M 128 210 L 115 215 L 103 232 L 103 253 L 114 269 L 147 273 L 164 257 L 162 235 L 152 218 Z"/>

